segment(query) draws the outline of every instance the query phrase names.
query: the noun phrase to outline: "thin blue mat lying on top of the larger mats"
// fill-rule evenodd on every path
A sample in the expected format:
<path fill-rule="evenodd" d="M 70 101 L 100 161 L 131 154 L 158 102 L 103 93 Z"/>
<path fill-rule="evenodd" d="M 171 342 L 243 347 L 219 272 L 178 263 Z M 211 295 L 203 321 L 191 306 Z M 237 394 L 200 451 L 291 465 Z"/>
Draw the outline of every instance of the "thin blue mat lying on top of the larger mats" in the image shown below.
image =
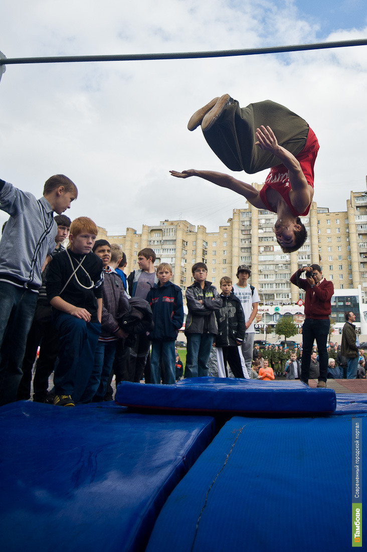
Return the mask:
<path fill-rule="evenodd" d="M 235 378 L 188 378 L 175 385 L 141 385 L 121 381 L 115 400 L 139 408 L 235 413 L 331 413 L 333 389 L 302 383 Z"/>

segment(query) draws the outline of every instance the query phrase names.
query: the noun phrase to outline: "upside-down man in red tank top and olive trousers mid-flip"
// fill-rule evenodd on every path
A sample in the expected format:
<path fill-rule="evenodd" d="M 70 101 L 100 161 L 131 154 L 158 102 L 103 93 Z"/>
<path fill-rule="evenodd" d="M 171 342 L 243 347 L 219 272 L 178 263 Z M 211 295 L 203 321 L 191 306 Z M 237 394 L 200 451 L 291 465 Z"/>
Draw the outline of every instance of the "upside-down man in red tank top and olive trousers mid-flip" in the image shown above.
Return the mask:
<path fill-rule="evenodd" d="M 250 184 L 214 171 L 170 171 L 172 176 L 204 178 L 243 195 L 258 209 L 273 211 L 278 214 L 274 232 L 282 250 L 298 250 L 307 237 L 300 216 L 310 210 L 319 148 L 306 121 L 270 100 L 241 109 L 224 94 L 196 111 L 188 129 L 199 125 L 211 149 L 231 171 L 253 174 L 270 168 L 263 188 L 258 192 Z"/>

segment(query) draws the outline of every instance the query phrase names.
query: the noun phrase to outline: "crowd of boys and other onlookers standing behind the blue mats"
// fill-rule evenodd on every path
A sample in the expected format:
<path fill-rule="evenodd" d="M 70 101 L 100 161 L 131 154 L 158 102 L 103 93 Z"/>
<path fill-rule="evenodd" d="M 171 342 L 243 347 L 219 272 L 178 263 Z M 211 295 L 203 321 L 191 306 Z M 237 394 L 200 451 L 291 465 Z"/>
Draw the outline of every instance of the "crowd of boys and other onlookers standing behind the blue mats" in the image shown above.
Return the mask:
<path fill-rule="evenodd" d="M 98 229 L 88 217 L 71 222 L 62 214 L 77 195 L 76 185 L 63 175 L 46 181 L 39 200 L 0 180 L 0 206 L 10 215 L 0 243 L 0 405 L 29 399 L 39 346 L 35 401 L 74 406 L 76 402 L 107 400 L 111 398 L 113 374 L 116 383 L 139 382 L 144 375 L 146 383 L 173 384 L 182 377 L 175 340 L 184 320 L 183 297 L 179 286 L 171 282 L 171 266 L 161 263 L 155 269 L 155 252 L 145 248 L 139 252 L 139 270 L 126 278 L 126 256 L 120 246 L 96 241 Z M 62 246 L 66 237 L 67 249 Z M 306 307 L 309 301 L 305 323 L 310 338 L 305 345 L 304 336 L 302 358 L 302 349 L 297 346 L 293 351 L 282 346 L 265 345 L 260 351 L 258 346 L 253 348 L 259 296 L 247 282 L 249 266 L 238 267 L 237 283 L 223 277 L 219 293 L 206 280 L 206 264 L 195 263 L 194 281 L 186 291 L 184 377 L 208 375 L 213 344 L 223 377 L 228 376 L 227 364 L 236 378 L 272 380 L 283 375 L 307 383 L 310 377 L 318 378 L 320 387 L 325 386 L 326 377 L 345 376 L 345 368 L 349 374 L 352 361 L 348 358 L 345 362 L 337 344 L 326 348 L 320 335 L 316 337 L 321 368 L 317 353 L 310 349 L 311 333 L 316 327 L 323 328 L 332 286 L 322 277 L 320 267 L 309 268 L 305 282 L 299 276 L 307 269 L 300 269 L 291 279 L 306 289 Z M 140 309 L 150 312 L 148 325 L 141 322 L 139 331 L 137 326 L 121 322 L 127 323 L 131 298 Z M 311 317 L 315 313 L 317 325 Z M 346 320 L 352 335 L 353 320 Z M 326 319 L 324 326 L 326 329 Z M 352 345 L 353 367 L 363 363 L 361 377 L 365 377 L 365 358 L 360 358 L 357 341 Z M 350 350 L 349 346 L 348 357 Z M 306 359 L 305 369 L 307 355 L 310 362 Z M 327 365 L 327 360 L 332 362 Z M 357 374 L 357 368 L 353 369 Z M 50 395 L 48 380 L 53 370 L 54 394 Z"/>

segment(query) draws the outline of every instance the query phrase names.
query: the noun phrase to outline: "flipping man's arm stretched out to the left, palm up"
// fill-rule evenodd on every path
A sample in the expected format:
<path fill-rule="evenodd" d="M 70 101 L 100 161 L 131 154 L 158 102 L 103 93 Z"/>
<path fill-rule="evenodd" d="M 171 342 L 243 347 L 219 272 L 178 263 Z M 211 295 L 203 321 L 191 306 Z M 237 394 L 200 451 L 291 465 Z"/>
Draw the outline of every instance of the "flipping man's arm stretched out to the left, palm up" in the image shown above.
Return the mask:
<path fill-rule="evenodd" d="M 258 209 L 265 209 L 265 205 L 262 200 L 260 200 L 259 192 L 251 184 L 241 182 L 240 180 L 231 177 L 229 174 L 218 173 L 215 171 L 196 171 L 195 169 L 189 169 L 188 171 L 182 172 L 169 172 L 176 178 L 189 178 L 190 176 L 204 178 L 204 180 L 208 180 L 217 186 L 233 190 L 233 192 L 243 195 L 243 197 L 245 197 L 254 207 L 257 207 Z"/>

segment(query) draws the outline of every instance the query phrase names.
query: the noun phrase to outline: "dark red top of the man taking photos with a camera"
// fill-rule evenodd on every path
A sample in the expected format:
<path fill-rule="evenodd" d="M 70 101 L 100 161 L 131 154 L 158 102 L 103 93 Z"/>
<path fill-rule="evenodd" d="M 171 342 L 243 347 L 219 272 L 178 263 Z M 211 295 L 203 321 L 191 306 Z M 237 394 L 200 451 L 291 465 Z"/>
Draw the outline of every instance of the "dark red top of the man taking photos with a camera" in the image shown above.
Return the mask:
<path fill-rule="evenodd" d="M 300 278 L 301 272 L 301 269 L 297 270 L 291 276 L 290 281 L 299 288 L 306 290 L 305 318 L 316 320 L 328 318 L 331 314 L 331 298 L 334 294 L 333 283 L 324 278 L 320 284 L 311 288 L 306 278 Z"/>

